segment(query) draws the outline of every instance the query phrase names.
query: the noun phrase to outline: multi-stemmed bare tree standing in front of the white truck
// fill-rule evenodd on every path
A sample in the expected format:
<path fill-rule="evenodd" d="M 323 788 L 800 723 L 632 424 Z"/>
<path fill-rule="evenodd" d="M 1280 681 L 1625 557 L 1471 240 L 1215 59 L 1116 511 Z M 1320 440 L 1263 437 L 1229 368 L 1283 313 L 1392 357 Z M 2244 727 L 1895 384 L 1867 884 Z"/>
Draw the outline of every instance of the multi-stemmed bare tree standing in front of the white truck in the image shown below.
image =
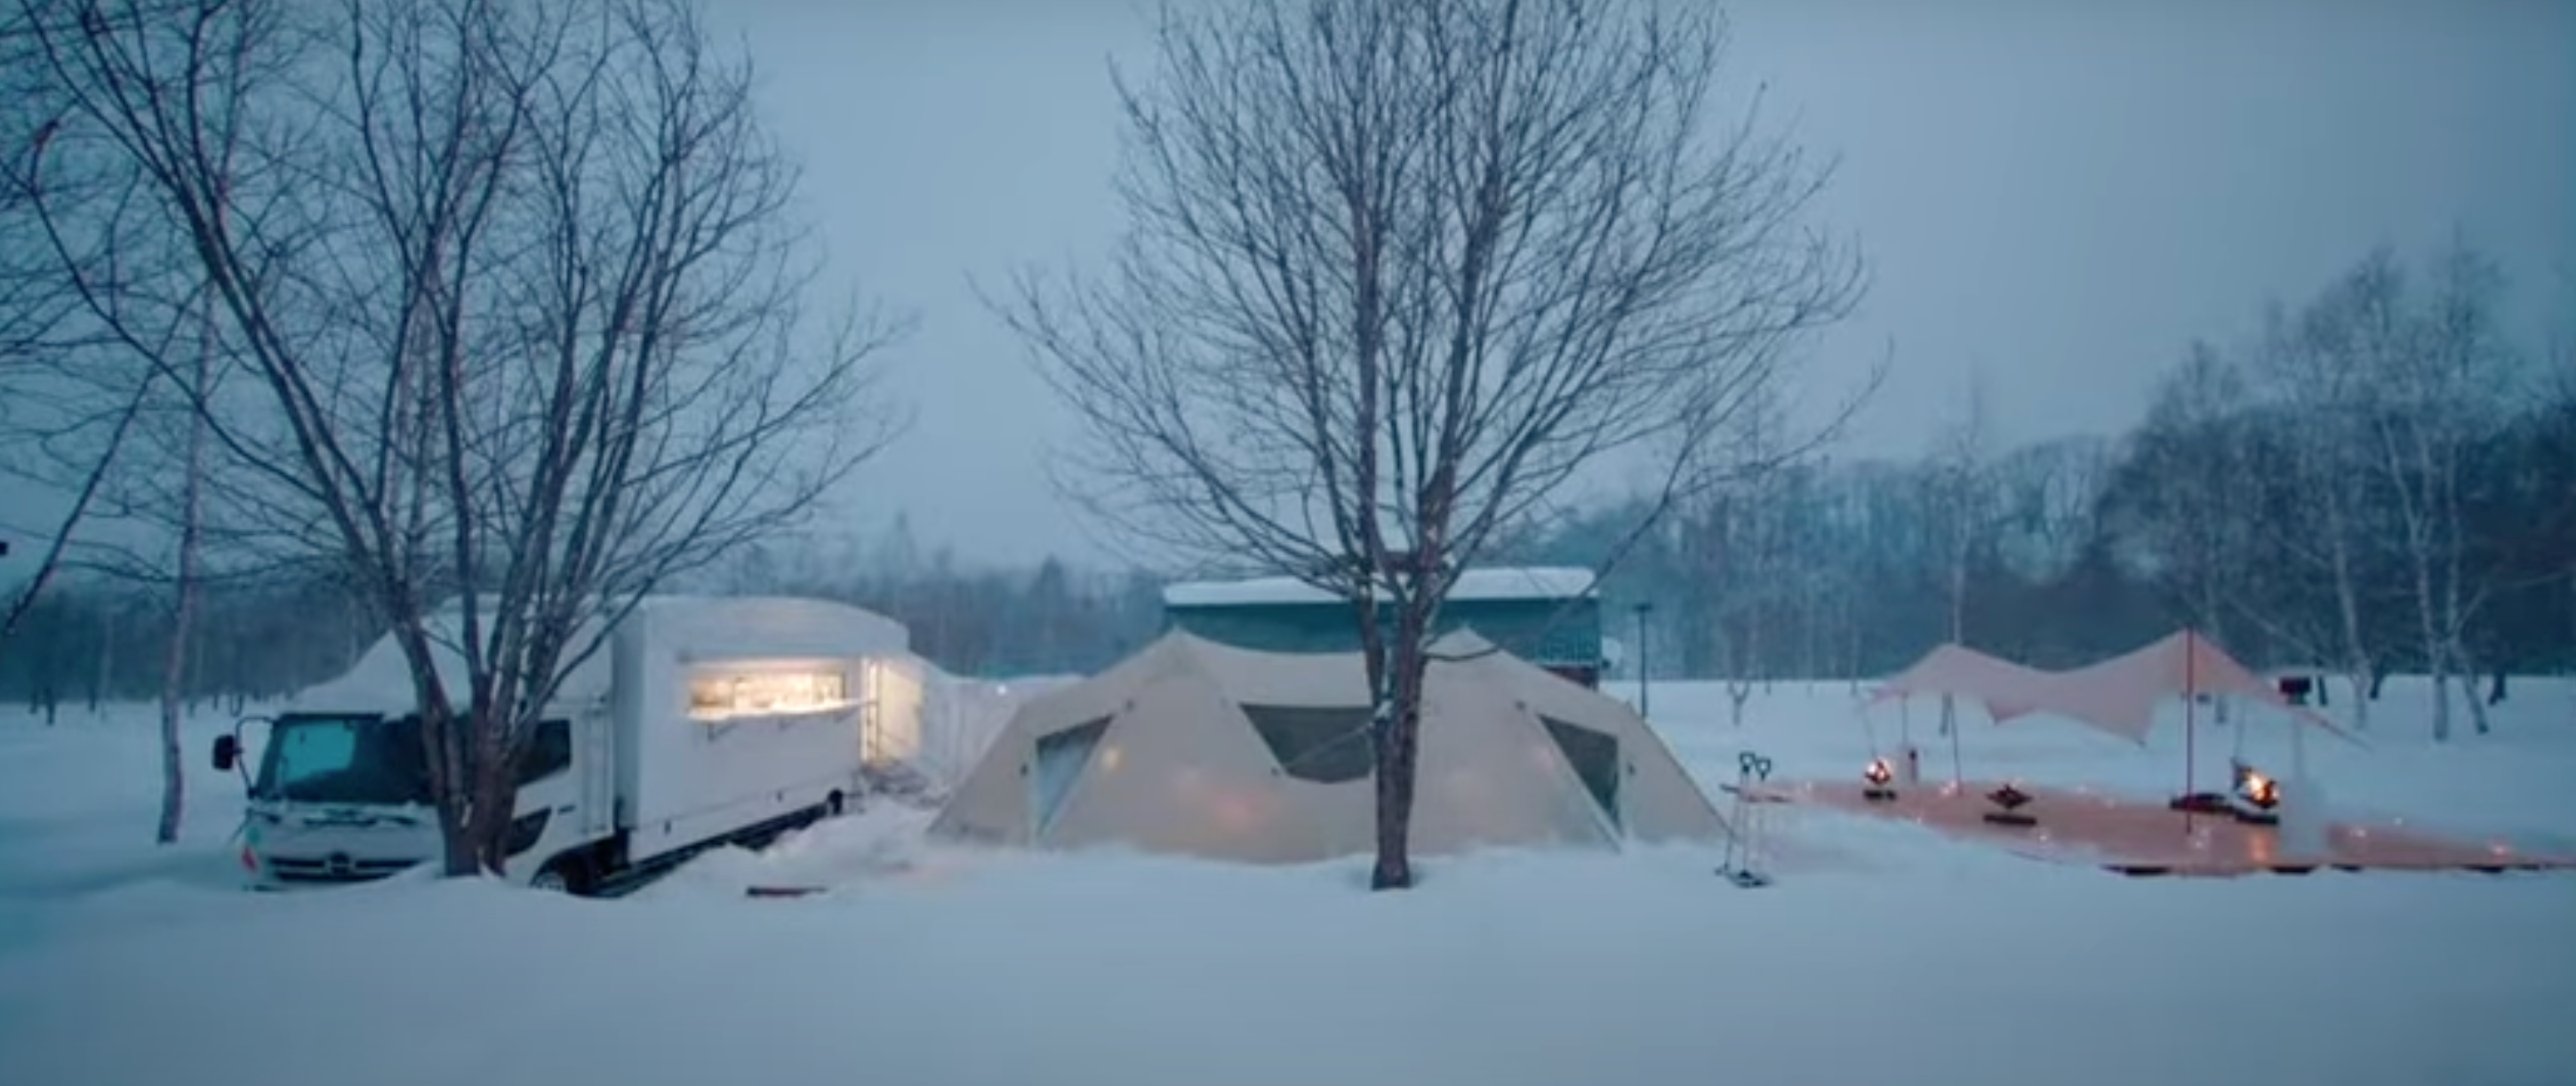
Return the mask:
<path fill-rule="evenodd" d="M 891 435 L 863 396 L 891 327 L 811 335 L 796 172 L 685 0 L 70 8 L 36 31 L 46 93 L 216 301 L 240 381 L 191 407 L 250 479 L 229 502 L 358 582 L 412 669 L 446 870 L 500 870 L 562 674 Z M 139 340 L 95 221 L 44 219 Z"/>

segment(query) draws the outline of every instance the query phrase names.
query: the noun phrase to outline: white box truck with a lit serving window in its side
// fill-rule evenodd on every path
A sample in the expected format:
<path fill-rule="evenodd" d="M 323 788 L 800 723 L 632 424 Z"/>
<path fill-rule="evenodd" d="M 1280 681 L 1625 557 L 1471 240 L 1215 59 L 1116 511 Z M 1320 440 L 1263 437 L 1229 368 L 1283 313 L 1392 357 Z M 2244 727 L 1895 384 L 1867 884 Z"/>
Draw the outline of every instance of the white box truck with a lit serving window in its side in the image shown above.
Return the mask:
<path fill-rule="evenodd" d="M 453 633 L 456 615 L 433 628 Z M 440 659 L 451 669 L 448 690 L 464 690 L 461 659 Z M 603 893 L 840 813 L 871 764 L 920 751 L 935 674 L 899 623 L 860 607 L 647 597 L 546 705 L 505 867 Z M 265 723 L 255 754 L 250 723 Z M 255 888 L 376 880 L 438 857 L 412 674 L 392 638 L 283 713 L 216 736 L 214 764 L 245 775 Z"/>

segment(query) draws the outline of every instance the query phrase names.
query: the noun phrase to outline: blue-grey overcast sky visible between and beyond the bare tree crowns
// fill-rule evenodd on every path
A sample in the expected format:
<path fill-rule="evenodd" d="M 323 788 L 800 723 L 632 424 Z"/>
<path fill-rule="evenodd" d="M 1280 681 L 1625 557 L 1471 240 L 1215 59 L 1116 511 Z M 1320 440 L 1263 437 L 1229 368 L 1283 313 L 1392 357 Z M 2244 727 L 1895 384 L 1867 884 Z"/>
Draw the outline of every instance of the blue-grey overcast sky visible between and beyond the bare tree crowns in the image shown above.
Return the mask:
<path fill-rule="evenodd" d="M 1100 558 L 1041 474 L 1069 419 L 971 281 L 1095 262 L 1121 221 L 1110 59 L 1128 0 L 719 0 L 806 162 L 835 288 L 920 317 L 917 427 L 824 530 Z M 2372 244 L 2452 224 L 2514 275 L 2514 329 L 2576 327 L 2576 3 L 1762 0 L 1728 93 L 1839 154 L 1824 224 L 1873 262 L 1816 381 L 1896 371 L 1850 450 L 1922 450 L 1984 373 L 2007 440 L 2112 432 L 2195 335 L 2246 335 Z M 21 502 L 26 504 L 26 502 Z M 10 517 L 21 520 L 21 517 Z"/>

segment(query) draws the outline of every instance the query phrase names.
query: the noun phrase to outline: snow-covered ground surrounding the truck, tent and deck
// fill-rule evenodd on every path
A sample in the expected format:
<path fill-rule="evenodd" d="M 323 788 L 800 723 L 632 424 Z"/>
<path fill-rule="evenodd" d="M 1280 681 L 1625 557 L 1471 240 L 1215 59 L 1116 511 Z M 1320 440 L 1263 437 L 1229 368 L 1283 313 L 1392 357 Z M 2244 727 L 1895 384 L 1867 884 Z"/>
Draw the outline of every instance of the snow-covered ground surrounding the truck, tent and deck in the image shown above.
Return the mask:
<path fill-rule="evenodd" d="M 1716 787 L 1852 777 L 1899 718 L 1844 685 L 1656 685 Z M 1904 721 L 1947 777 L 1932 708 Z M 1476 854 L 1368 896 L 1363 862 L 1226 867 L 930 849 L 876 808 L 623 901 L 487 883 L 247 896 L 232 780 L 149 844 L 149 713 L 0 715 L 0 1083 L 2174 1083 L 2576 1081 L 2576 878 L 2123 880 L 1790 811 L 1780 883 L 1708 849 Z M 2244 754 L 2287 767 L 2275 721 Z M 2576 682 L 2424 741 L 2393 682 L 2370 749 L 2311 741 L 2336 811 L 2576 842 Z M 2465 721 L 2463 721 L 2465 731 Z M 2200 733 L 2221 782 L 2233 731 Z M 2146 751 L 1973 721 L 1968 777 L 2164 795 Z M 744 885 L 832 893 L 750 901 Z"/>

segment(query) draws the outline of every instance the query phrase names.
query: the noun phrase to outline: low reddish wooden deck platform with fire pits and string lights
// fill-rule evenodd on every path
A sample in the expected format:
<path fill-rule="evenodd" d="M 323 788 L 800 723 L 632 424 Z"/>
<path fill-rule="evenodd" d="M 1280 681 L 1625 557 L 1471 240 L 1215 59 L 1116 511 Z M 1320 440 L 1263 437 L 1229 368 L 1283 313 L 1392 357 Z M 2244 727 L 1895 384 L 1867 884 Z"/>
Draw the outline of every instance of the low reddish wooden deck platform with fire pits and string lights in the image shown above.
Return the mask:
<path fill-rule="evenodd" d="M 1775 790 L 1793 803 L 1816 803 L 1878 818 L 1904 818 L 1971 842 L 1996 844 L 2032 860 L 2084 862 L 2120 875 L 2306 875 L 2326 870 L 2576 870 L 2576 854 L 2530 852 L 2509 842 L 2458 842 L 2398 824 L 2331 824 L 2321 854 L 2290 854 L 2280 829 L 2228 816 L 2172 811 L 2146 800 L 2079 787 L 2014 782 L 2032 798 L 2022 813 L 2032 826 L 1986 821 L 1996 782 L 1914 785 L 1893 800 L 1870 803 L 1860 782 L 1785 782 Z"/>

